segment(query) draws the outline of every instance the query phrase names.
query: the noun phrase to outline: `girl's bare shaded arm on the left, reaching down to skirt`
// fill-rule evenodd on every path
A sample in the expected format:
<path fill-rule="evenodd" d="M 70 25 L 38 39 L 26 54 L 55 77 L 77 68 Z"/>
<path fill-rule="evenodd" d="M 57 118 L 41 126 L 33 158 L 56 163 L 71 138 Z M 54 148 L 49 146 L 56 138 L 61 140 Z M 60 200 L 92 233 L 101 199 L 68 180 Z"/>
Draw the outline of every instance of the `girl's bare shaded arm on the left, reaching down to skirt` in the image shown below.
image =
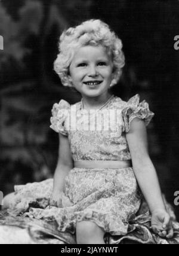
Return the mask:
<path fill-rule="evenodd" d="M 64 179 L 72 168 L 73 159 L 69 140 L 66 136 L 59 133 L 58 162 L 54 173 L 53 194 L 51 198 L 51 201 L 57 202 L 57 205 L 60 193 L 63 192 Z"/>

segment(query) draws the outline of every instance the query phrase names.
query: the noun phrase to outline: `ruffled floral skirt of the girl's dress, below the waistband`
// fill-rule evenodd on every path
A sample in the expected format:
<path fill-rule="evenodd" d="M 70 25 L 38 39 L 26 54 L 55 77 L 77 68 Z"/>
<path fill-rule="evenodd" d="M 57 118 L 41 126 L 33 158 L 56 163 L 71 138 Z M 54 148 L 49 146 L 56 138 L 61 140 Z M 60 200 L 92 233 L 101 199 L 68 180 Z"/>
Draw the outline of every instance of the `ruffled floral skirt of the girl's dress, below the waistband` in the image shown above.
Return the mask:
<path fill-rule="evenodd" d="M 22 199 L 16 208 L 27 211 L 29 203 L 31 207 L 29 212 L 26 212 L 28 217 L 54 220 L 59 231 L 72 234 L 75 234 L 77 221 L 92 221 L 106 233 L 124 235 L 131 230 L 129 220 L 134 217 L 141 204 L 140 191 L 132 167 L 73 168 L 64 180 L 63 208 L 46 207 L 52 189 L 53 179 L 16 186 L 18 199 Z M 37 200 L 37 196 L 41 198 Z M 32 207 L 33 205 L 36 205 L 36 208 Z"/>

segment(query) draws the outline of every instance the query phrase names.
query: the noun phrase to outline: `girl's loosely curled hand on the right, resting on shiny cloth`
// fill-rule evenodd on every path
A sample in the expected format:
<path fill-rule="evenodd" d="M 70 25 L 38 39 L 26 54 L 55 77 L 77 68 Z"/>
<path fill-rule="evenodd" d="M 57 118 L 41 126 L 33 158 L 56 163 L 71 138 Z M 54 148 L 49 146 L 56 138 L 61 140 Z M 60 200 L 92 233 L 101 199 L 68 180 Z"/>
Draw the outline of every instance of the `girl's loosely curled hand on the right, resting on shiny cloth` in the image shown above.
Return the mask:
<path fill-rule="evenodd" d="M 174 235 L 171 217 L 164 209 L 152 212 L 152 230 L 161 237 L 171 239 Z"/>

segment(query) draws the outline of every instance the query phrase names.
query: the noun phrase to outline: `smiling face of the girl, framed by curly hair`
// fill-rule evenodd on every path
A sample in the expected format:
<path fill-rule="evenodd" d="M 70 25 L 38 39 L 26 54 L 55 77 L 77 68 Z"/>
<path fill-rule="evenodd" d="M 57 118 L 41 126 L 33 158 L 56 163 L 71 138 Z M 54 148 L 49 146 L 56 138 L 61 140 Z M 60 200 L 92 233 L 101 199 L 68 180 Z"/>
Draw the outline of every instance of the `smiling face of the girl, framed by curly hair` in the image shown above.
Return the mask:
<path fill-rule="evenodd" d="M 112 58 L 103 46 L 87 45 L 76 51 L 69 71 L 70 81 L 82 96 L 105 95 L 113 78 Z"/>

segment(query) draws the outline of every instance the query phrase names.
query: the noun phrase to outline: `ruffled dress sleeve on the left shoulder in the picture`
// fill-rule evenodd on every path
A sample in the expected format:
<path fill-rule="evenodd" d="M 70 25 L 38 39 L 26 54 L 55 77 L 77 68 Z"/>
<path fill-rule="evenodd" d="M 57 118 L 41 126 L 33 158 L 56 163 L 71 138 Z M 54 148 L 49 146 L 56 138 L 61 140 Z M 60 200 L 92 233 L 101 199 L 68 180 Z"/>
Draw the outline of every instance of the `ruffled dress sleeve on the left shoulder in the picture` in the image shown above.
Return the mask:
<path fill-rule="evenodd" d="M 66 101 L 61 99 L 59 103 L 55 103 L 53 105 L 52 117 L 50 118 L 51 126 L 50 128 L 53 129 L 55 132 L 60 132 L 61 134 L 67 136 L 67 131 L 65 127 L 66 118 L 68 117 L 70 110 L 70 104 Z"/>

